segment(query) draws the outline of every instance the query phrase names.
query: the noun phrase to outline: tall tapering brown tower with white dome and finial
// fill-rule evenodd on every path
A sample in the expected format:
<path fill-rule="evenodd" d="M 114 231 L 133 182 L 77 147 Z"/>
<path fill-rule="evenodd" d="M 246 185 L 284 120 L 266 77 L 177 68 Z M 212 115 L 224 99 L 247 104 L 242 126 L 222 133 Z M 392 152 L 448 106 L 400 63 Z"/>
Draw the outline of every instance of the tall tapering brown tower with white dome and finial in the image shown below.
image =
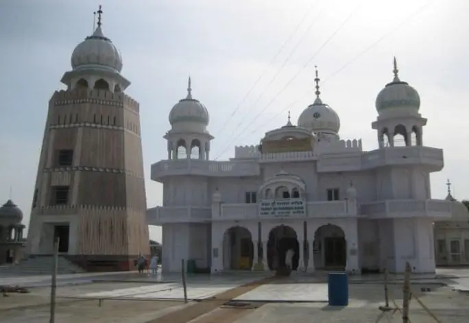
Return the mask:
<path fill-rule="evenodd" d="M 129 270 L 149 254 L 139 103 L 101 29 L 77 45 L 49 101 L 27 253 L 59 252 L 86 270 Z"/>

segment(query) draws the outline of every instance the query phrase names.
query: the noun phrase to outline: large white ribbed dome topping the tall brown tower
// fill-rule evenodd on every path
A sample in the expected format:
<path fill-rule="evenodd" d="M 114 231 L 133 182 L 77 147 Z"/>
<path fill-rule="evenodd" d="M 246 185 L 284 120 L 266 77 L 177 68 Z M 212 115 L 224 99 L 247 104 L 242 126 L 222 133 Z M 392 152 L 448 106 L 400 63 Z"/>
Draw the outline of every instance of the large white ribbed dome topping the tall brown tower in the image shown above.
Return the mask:
<path fill-rule="evenodd" d="M 104 36 L 99 25 L 93 35 L 86 37 L 82 43 L 73 50 L 71 57 L 73 69 L 92 67 L 94 69 L 110 69 L 120 72 L 122 70 L 122 57 L 119 49 L 111 40 Z"/>

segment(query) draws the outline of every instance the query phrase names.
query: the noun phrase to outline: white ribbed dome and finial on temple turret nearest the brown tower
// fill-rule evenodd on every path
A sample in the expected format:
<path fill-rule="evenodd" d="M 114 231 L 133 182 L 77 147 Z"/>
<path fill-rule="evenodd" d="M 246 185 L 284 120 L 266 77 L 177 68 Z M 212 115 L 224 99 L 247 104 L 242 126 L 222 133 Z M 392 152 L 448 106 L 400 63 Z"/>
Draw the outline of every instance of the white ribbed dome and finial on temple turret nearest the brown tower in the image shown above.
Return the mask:
<path fill-rule="evenodd" d="M 189 77 L 187 97 L 173 106 L 169 112 L 169 123 L 173 130 L 204 132 L 209 121 L 207 108 L 192 97 L 191 77 Z"/>

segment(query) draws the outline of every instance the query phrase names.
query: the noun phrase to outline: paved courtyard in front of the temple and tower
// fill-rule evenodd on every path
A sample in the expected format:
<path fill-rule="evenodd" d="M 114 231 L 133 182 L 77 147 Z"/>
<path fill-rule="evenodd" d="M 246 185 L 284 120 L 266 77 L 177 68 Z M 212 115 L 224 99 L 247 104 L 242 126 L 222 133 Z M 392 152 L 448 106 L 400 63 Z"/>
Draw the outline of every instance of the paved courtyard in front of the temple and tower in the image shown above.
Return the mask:
<path fill-rule="evenodd" d="M 60 276 L 56 322 L 173 323 L 173 320 L 165 320 L 165 315 L 183 313 L 197 307 L 197 304 L 211 304 L 217 295 L 265 276 L 263 273 L 188 276 L 188 304 L 182 302 L 184 292 L 179 275 L 108 273 Z M 390 276 L 389 280 L 391 300 L 402 306 L 402 276 Z M 2 298 L 0 323 L 49 322 L 49 282 L 45 276 L 19 277 L 16 280 L 0 278 L 0 285 L 33 286 L 29 294 L 10 294 Z M 422 291 L 427 288 L 430 291 Z M 441 322 L 468 322 L 469 270 L 438 270 L 436 275 L 415 275 L 412 289 L 413 294 Z M 384 304 L 383 276 L 350 276 L 349 294 L 348 307 L 328 307 L 326 276 L 297 275 L 267 282 L 234 298 L 244 302 L 246 307 L 226 307 L 223 303 L 228 299 L 221 300 L 212 309 L 207 307 L 193 319 L 180 322 L 376 322 L 381 313 L 378 307 Z M 411 301 L 410 317 L 413 323 L 436 322 L 415 299 Z M 389 320 L 383 318 L 380 322 L 402 320 L 396 313 Z"/>

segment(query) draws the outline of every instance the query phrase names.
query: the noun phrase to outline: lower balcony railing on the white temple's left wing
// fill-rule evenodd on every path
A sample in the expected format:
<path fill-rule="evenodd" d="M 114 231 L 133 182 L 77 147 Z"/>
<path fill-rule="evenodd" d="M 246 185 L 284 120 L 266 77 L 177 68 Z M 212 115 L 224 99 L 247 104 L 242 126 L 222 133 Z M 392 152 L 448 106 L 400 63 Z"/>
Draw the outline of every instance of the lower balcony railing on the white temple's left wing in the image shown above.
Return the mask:
<path fill-rule="evenodd" d="M 212 208 L 197 206 L 156 206 L 147 210 L 147 223 L 160 225 L 170 222 L 207 222 L 212 219 Z"/>

